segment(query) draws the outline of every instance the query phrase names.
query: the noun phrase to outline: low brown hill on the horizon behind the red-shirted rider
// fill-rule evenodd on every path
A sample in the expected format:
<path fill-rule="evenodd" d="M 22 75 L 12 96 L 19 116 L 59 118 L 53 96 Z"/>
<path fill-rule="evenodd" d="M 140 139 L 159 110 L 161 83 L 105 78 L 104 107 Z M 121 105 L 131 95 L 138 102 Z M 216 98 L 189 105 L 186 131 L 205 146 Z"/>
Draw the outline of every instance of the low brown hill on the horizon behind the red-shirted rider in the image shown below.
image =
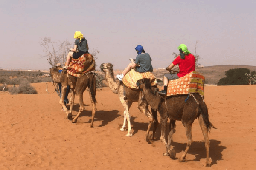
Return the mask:
<path fill-rule="evenodd" d="M 256 66 L 250 65 L 214 65 L 197 68 L 205 77 L 205 84 L 217 85 L 218 81 L 225 77 L 225 72 L 234 68 L 248 68 L 251 71 L 256 71 Z M 163 75 L 167 73 L 165 69 L 154 69 L 154 75 L 157 79 L 163 79 Z"/>

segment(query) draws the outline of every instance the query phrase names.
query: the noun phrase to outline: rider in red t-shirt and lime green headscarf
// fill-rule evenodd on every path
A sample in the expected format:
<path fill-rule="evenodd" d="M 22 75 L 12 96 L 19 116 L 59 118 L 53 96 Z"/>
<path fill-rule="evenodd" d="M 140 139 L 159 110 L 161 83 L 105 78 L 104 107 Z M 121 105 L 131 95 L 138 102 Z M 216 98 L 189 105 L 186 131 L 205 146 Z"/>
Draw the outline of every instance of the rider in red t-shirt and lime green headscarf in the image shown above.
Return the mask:
<path fill-rule="evenodd" d="M 195 71 L 195 56 L 190 53 L 187 46 L 185 44 L 180 44 L 178 47 L 180 51 L 180 55 L 175 58 L 175 60 L 170 64 L 166 70 L 170 71 L 175 65 L 179 65 L 179 73 L 168 73 L 163 77 L 163 90 L 158 93 L 166 96 L 167 94 L 167 85 L 169 80 L 175 80 L 180 77 L 186 76 L 191 71 Z"/>

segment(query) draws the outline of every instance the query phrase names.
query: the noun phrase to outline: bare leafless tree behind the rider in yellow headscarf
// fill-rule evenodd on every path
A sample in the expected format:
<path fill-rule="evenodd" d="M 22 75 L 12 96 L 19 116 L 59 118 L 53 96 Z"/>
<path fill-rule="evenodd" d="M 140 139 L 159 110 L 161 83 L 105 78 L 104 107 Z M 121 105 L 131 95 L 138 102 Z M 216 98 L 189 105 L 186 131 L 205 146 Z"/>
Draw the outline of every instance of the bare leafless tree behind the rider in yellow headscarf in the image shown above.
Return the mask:
<path fill-rule="evenodd" d="M 39 42 L 40 46 L 43 47 L 43 52 L 45 55 L 41 55 L 41 57 L 47 57 L 48 63 L 55 67 L 57 63 L 61 63 L 61 65 L 64 65 L 67 59 L 67 54 L 69 52 L 69 49 L 72 48 L 72 44 L 68 42 L 67 40 L 63 40 L 62 42 L 59 41 L 54 42 L 51 40 L 50 37 L 44 37 L 41 38 L 41 41 Z M 90 54 L 92 54 L 96 59 L 98 59 L 96 54 L 99 53 L 99 50 L 93 49 Z"/>

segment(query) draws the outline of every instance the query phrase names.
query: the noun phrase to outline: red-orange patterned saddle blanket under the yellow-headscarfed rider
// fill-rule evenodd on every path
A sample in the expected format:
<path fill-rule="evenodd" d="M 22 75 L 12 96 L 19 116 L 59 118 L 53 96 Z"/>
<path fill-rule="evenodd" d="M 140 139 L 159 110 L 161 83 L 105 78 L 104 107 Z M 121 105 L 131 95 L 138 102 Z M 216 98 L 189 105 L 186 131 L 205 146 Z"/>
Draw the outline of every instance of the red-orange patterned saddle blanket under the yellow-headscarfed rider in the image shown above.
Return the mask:
<path fill-rule="evenodd" d="M 91 71 L 95 71 L 95 60 L 91 54 L 86 53 L 78 59 L 71 58 L 67 73 L 75 77 L 81 77 Z"/>

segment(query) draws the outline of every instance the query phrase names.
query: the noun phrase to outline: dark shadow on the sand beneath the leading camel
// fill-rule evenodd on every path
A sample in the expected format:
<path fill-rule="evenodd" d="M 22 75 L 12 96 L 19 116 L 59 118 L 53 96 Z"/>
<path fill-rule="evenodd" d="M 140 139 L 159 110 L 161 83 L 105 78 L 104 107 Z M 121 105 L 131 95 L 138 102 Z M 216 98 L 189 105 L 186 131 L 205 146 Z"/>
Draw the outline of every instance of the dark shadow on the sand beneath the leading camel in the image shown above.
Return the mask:
<path fill-rule="evenodd" d="M 91 123 L 92 119 L 92 110 L 90 108 L 90 105 L 85 105 L 85 106 L 89 106 L 85 107 L 84 111 L 80 114 L 79 117 L 83 117 L 83 116 L 88 116 L 90 117 L 90 119 L 88 120 L 88 122 L 77 122 L 77 123 Z M 79 104 L 77 104 L 76 106 L 73 106 L 73 111 L 76 111 L 78 113 L 79 111 Z M 77 114 L 76 113 L 76 114 Z M 95 121 L 102 121 L 102 124 L 99 125 L 99 127 L 105 126 L 107 125 L 109 122 L 113 121 L 114 119 L 116 119 L 117 117 L 119 117 L 120 115 L 118 114 L 119 111 L 117 110 L 112 110 L 112 111 L 96 111 L 95 113 L 95 117 L 94 117 L 94 122 Z M 72 116 L 76 116 L 76 114 L 73 113 Z"/>

